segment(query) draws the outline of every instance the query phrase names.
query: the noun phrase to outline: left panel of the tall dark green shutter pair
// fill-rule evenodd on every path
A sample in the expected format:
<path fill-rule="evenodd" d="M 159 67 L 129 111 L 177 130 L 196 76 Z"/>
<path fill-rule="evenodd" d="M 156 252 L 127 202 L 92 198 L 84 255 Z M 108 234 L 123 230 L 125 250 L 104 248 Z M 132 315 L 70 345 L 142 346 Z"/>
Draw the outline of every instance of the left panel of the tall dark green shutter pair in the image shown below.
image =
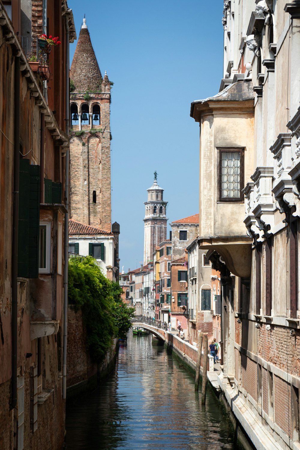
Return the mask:
<path fill-rule="evenodd" d="M 20 159 L 19 220 L 18 220 L 18 277 L 28 278 L 29 251 L 29 159 Z"/>

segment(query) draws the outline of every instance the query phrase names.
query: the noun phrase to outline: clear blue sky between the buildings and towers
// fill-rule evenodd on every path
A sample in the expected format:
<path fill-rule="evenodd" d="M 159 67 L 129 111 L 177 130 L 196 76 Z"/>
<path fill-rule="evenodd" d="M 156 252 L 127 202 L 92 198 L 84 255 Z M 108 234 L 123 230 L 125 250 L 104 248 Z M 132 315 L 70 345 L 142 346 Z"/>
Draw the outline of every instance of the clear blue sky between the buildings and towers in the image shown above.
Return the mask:
<path fill-rule="evenodd" d="M 223 0 L 69 0 L 79 36 L 85 14 L 111 81 L 112 222 L 120 269 L 143 261 L 143 217 L 153 172 L 169 222 L 199 212 L 199 125 L 193 100 L 219 91 Z M 71 61 L 76 41 L 71 45 Z"/>

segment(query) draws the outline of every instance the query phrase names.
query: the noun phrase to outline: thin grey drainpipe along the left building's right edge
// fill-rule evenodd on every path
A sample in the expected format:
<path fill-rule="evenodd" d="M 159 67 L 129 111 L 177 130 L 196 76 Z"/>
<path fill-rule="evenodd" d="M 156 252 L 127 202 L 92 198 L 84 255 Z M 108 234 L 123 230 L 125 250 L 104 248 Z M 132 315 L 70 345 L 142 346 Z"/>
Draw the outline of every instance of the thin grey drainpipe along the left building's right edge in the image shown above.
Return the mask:
<path fill-rule="evenodd" d="M 69 43 L 69 24 L 68 16 L 65 15 L 65 27 L 66 27 L 66 134 L 69 137 L 69 120 L 70 120 L 70 87 L 69 87 L 69 59 L 70 59 L 70 43 Z M 70 153 L 69 147 L 66 151 L 66 214 L 65 214 L 65 266 L 64 266 L 64 314 L 63 314 L 63 399 L 67 396 L 67 314 L 68 314 L 68 263 L 69 263 L 69 164 Z"/>

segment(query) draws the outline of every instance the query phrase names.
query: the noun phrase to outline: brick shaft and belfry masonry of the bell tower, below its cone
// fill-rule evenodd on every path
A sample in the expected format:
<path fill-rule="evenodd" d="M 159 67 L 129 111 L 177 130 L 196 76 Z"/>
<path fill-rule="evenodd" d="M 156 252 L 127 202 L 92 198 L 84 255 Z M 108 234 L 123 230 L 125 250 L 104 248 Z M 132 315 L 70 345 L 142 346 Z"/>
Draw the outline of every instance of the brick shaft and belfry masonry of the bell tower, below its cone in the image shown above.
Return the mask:
<path fill-rule="evenodd" d="M 111 167 L 110 167 L 110 117 L 107 94 L 97 94 L 89 101 L 76 96 L 78 111 L 81 103 L 88 103 L 92 111 L 94 103 L 100 104 L 101 128 L 105 132 L 92 134 L 89 130 L 81 136 L 72 132 L 71 156 L 71 219 L 111 231 Z M 83 145 L 84 144 L 84 145 Z M 96 203 L 93 202 L 96 191 Z"/>

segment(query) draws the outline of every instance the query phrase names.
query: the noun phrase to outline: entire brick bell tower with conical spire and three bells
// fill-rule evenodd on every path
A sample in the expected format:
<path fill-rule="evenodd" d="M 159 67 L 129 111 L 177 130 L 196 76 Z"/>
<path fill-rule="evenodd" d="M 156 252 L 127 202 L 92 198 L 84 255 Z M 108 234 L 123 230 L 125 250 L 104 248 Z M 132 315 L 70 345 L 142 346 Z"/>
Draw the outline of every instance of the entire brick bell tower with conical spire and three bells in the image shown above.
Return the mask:
<path fill-rule="evenodd" d="M 111 231 L 111 83 L 106 72 L 102 78 L 85 18 L 70 72 L 70 218 Z"/>

